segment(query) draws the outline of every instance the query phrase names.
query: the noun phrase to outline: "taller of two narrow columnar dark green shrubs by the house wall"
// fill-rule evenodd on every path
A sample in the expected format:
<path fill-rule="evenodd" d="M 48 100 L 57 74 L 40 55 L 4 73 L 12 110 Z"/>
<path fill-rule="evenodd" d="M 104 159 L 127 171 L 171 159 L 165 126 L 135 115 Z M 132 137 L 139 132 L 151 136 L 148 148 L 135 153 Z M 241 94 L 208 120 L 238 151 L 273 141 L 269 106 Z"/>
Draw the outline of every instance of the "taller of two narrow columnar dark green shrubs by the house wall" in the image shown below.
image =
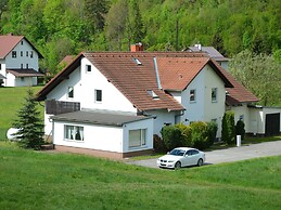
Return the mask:
<path fill-rule="evenodd" d="M 221 140 L 227 144 L 233 144 L 235 140 L 234 113 L 226 111 L 222 118 Z"/>

